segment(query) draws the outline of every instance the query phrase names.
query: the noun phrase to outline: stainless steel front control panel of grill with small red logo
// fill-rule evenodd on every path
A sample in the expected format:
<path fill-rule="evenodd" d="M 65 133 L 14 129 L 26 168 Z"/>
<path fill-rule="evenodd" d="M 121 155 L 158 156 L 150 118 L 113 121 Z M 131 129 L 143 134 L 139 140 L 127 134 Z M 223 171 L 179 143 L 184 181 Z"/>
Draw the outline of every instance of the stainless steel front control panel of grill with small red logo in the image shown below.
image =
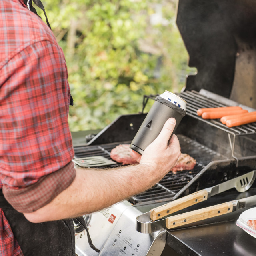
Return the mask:
<path fill-rule="evenodd" d="M 85 231 L 76 233 L 78 256 L 160 256 L 166 244 L 166 230 L 142 234 L 135 229 L 136 216 L 142 212 L 128 201 L 95 212 L 88 223 L 92 242 L 100 253 L 92 250 Z"/>

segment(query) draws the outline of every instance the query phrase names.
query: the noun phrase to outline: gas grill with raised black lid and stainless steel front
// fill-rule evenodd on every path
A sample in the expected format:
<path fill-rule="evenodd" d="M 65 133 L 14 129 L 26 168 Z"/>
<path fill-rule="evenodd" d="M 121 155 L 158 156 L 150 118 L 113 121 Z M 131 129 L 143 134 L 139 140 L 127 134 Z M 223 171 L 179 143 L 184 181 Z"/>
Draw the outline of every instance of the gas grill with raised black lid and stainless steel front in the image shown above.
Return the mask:
<path fill-rule="evenodd" d="M 187 104 L 186 116 L 175 133 L 181 152 L 195 158 L 196 166 L 193 170 L 176 174 L 170 172 L 149 190 L 85 216 L 92 241 L 101 252 L 98 254 L 90 249 L 86 232 L 76 223 L 77 255 L 218 255 L 220 251 L 217 249 L 207 251 L 207 246 L 198 242 L 197 234 L 201 232 L 201 240 L 205 240 L 203 237 L 208 234 L 212 241 L 205 242 L 216 244 L 218 239 L 215 236 L 214 240 L 214 232 L 218 234 L 218 225 L 218 228 L 229 228 L 232 232 L 225 235 L 228 242 L 220 244 L 223 247 L 221 253 L 230 249 L 232 252 L 224 255 L 254 255 L 250 254 L 254 252 L 249 245 L 252 243 L 250 239 L 254 238 L 246 237 L 248 242 L 246 239 L 243 241 L 244 254 L 240 254 L 241 248 L 236 244 L 234 233 L 247 235 L 234 228 L 239 211 L 202 222 L 199 228 L 187 226 L 151 234 L 136 231 L 135 222 L 138 215 L 164 202 L 256 169 L 256 123 L 228 128 L 219 119 L 204 120 L 196 113 L 198 108 L 223 106 L 241 106 L 249 112 L 256 111 L 255 24 L 256 3 L 253 0 L 178 2 L 177 25 L 190 55 L 189 65 L 195 66 L 198 72 L 195 76 L 188 76 L 184 90 L 178 94 Z M 121 166 L 111 160 L 110 151 L 119 144 L 131 143 L 146 116 L 143 113 L 145 104 L 150 104 L 155 97 L 144 96 L 141 114 L 120 116 L 96 134 L 85 131 L 80 142 L 77 145 L 74 143 L 74 162 L 93 168 Z M 256 186 L 244 193 L 256 194 Z M 243 195 L 227 191 L 191 209 L 234 200 L 239 196 Z M 184 235 L 187 233 L 190 236 Z"/>

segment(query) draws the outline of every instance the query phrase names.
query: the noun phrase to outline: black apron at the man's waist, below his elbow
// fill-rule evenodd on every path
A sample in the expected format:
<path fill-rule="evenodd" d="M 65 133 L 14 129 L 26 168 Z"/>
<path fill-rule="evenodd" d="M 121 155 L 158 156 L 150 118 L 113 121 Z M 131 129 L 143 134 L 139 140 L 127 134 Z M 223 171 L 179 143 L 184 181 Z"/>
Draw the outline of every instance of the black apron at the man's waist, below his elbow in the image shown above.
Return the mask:
<path fill-rule="evenodd" d="M 0 190 L 0 208 L 3 209 L 24 256 L 75 256 L 73 220 L 31 223 L 17 212 Z"/>

